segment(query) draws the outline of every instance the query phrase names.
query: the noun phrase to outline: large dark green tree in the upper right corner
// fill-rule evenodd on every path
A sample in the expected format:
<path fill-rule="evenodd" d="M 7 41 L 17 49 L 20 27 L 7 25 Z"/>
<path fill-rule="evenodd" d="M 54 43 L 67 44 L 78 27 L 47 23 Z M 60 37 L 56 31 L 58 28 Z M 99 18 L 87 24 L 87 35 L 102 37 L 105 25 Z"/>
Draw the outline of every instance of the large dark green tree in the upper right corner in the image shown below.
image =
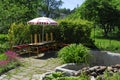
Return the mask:
<path fill-rule="evenodd" d="M 109 32 L 120 26 L 120 1 L 116 0 L 116 3 L 114 0 L 86 0 L 80 8 L 81 17 L 100 24 L 104 36 L 108 36 Z"/>

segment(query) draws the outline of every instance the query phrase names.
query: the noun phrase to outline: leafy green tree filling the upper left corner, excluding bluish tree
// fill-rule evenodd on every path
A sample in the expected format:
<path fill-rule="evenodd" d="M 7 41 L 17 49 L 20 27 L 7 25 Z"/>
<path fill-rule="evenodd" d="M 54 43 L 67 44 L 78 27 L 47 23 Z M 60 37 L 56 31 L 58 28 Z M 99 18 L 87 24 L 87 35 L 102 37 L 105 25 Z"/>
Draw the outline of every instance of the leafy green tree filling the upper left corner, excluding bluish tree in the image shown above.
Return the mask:
<path fill-rule="evenodd" d="M 38 0 L 1 0 L 0 32 L 7 33 L 9 26 L 14 22 L 26 23 L 28 20 L 36 17 L 39 5 Z"/>

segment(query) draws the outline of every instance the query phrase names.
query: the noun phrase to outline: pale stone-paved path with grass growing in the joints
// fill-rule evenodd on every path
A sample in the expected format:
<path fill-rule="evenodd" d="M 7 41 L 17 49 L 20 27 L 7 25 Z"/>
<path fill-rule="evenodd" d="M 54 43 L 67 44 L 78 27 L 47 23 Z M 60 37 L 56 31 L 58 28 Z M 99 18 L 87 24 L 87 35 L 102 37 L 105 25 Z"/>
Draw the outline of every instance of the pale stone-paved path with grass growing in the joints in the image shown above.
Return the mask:
<path fill-rule="evenodd" d="M 41 74 L 51 72 L 61 65 L 55 52 L 22 58 L 23 66 L 8 71 L 0 80 L 40 80 Z M 37 58 L 35 58 L 37 57 Z"/>

